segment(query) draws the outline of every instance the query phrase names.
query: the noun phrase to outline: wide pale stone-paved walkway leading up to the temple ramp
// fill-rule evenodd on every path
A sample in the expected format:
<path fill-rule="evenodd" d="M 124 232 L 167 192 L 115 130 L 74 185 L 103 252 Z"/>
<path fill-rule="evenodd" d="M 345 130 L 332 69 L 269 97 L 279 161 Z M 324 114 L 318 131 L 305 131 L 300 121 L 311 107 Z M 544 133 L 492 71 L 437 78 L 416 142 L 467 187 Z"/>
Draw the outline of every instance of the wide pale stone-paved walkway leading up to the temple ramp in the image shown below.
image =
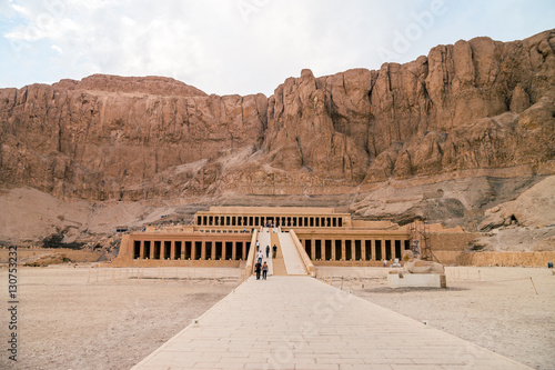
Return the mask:
<path fill-rule="evenodd" d="M 309 277 L 252 277 L 133 369 L 529 369 Z"/>

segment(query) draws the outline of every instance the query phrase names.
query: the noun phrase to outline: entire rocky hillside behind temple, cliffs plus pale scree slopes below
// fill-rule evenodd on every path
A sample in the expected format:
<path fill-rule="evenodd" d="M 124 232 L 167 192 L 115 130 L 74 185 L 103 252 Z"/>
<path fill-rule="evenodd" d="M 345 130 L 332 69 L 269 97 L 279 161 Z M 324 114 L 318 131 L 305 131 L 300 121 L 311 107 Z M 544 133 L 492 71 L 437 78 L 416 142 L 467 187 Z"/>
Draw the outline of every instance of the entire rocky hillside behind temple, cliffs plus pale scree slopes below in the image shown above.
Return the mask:
<path fill-rule="evenodd" d="M 98 239 L 210 204 L 553 232 L 554 51 L 555 30 L 461 40 L 380 70 L 303 70 L 269 98 L 101 74 L 0 89 L 0 240 Z"/>

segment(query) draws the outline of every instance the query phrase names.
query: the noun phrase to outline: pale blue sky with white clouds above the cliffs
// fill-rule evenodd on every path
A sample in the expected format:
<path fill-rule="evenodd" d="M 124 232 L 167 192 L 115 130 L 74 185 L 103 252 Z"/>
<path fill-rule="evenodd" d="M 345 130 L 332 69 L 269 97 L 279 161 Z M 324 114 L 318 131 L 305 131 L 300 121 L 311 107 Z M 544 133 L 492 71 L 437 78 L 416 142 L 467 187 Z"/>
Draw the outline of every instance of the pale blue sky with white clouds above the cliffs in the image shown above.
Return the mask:
<path fill-rule="evenodd" d="M 304 68 L 380 69 L 553 28 L 554 0 L 0 0 L 0 88 L 107 73 L 269 97 Z"/>

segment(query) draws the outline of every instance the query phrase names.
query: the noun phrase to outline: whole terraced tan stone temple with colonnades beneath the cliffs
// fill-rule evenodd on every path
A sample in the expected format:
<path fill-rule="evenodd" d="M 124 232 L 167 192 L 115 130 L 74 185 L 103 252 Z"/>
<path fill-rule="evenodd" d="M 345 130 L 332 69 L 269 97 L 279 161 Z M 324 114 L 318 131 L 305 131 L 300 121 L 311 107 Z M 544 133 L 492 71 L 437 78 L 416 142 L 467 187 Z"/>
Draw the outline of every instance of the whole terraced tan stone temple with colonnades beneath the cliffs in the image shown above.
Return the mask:
<path fill-rule="evenodd" d="M 271 232 L 263 240 L 261 231 Z M 275 236 L 274 236 L 275 234 Z M 256 242 L 280 251 L 289 234 L 313 264 L 381 266 L 411 248 L 411 229 L 390 221 L 352 220 L 333 208 L 211 207 L 194 223 L 148 228 L 122 238 L 122 266 L 239 267 Z M 285 237 L 284 237 L 285 238 Z"/>

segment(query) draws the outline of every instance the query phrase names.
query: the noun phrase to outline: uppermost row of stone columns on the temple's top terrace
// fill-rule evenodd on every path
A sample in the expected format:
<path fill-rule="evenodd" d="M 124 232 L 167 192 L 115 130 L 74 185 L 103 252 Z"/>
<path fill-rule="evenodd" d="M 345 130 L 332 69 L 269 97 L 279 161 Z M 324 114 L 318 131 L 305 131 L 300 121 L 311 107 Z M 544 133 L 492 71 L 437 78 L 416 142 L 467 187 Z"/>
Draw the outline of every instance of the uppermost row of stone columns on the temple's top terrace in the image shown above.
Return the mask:
<path fill-rule="evenodd" d="M 196 226 L 220 227 L 275 227 L 297 228 L 341 228 L 342 217 L 304 217 L 304 216 L 196 216 Z"/>

